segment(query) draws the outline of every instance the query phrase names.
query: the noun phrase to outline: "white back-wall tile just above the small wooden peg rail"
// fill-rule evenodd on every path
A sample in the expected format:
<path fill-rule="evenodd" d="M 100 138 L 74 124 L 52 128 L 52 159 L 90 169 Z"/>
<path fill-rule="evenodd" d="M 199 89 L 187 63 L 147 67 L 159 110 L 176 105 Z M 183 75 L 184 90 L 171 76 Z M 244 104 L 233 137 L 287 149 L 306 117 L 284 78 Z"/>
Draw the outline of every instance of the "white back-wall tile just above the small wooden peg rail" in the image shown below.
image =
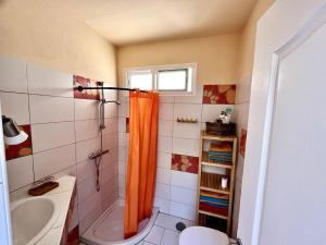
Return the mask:
<path fill-rule="evenodd" d="M 174 105 L 174 121 L 177 118 L 193 119 L 200 121 L 201 119 L 201 105 L 175 103 Z"/>

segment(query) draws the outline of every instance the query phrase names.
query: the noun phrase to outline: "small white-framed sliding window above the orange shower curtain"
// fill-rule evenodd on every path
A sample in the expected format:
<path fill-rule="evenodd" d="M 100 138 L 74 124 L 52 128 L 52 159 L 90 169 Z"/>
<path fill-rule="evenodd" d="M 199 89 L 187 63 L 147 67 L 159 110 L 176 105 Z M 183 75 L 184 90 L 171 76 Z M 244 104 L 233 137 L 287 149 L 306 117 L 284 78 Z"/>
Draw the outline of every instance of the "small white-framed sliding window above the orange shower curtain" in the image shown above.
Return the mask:
<path fill-rule="evenodd" d="M 196 64 L 176 64 L 125 70 L 126 86 L 155 89 L 162 95 L 193 95 L 196 68 Z"/>

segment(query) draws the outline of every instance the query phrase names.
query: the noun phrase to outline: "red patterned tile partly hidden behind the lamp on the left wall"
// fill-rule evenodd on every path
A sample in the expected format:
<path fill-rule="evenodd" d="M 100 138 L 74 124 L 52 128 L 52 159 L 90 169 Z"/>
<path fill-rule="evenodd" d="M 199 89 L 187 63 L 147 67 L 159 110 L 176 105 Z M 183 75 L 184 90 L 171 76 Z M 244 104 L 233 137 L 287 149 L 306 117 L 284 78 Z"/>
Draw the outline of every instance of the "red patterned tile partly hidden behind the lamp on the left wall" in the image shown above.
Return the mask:
<path fill-rule="evenodd" d="M 33 154 L 32 150 L 32 134 L 30 125 L 20 125 L 23 127 L 23 131 L 28 134 L 26 142 L 23 142 L 20 145 L 5 146 L 5 160 L 12 160 L 15 158 L 25 157 Z"/>

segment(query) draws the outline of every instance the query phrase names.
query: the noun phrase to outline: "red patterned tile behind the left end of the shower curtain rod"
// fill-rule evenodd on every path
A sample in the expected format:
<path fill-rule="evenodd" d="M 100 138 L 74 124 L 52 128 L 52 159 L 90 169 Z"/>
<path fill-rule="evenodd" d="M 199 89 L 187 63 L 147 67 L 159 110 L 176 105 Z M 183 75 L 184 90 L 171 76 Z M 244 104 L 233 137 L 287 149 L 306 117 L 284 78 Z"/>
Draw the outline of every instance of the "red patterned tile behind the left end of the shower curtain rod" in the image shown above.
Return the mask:
<path fill-rule="evenodd" d="M 92 79 L 89 79 L 89 78 L 85 78 L 83 76 L 76 76 L 76 75 L 74 75 L 74 87 L 78 87 L 78 86 L 83 86 L 83 87 L 96 87 L 97 86 L 97 82 L 92 81 Z M 93 100 L 99 100 L 100 99 L 100 93 L 97 89 L 83 90 L 83 91 L 74 90 L 74 97 L 78 98 L 78 99 L 93 99 Z"/>

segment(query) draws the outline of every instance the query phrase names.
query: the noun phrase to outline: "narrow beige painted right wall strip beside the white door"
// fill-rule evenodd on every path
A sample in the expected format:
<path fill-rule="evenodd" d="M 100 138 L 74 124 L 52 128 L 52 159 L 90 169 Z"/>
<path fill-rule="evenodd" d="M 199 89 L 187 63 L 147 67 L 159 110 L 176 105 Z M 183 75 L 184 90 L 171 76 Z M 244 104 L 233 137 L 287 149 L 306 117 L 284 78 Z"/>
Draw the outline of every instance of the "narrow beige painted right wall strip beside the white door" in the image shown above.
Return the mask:
<path fill-rule="evenodd" d="M 259 0 L 241 34 L 238 81 L 250 76 L 253 68 L 256 23 L 275 0 Z"/>

